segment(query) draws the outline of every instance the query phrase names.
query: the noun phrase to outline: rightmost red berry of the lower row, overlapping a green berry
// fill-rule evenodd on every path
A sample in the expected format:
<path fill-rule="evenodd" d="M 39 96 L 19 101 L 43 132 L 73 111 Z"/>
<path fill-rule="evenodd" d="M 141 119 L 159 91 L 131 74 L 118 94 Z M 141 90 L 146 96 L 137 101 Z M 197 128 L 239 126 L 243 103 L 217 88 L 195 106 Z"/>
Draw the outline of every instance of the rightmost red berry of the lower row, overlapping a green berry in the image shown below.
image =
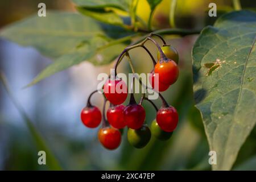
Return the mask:
<path fill-rule="evenodd" d="M 178 120 L 179 115 L 177 114 L 176 109 L 172 106 L 159 109 L 158 113 L 156 113 L 156 122 L 159 127 L 166 132 L 174 131 Z"/>

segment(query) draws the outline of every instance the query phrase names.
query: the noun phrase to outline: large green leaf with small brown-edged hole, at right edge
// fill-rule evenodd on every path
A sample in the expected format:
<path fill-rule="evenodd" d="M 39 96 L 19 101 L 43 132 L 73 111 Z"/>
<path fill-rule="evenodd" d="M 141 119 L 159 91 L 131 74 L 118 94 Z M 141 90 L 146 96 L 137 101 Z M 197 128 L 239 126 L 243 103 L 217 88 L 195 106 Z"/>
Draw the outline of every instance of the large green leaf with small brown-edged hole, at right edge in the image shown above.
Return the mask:
<path fill-rule="evenodd" d="M 194 97 L 214 170 L 229 170 L 256 123 L 256 14 L 235 11 L 204 28 L 192 50 Z"/>

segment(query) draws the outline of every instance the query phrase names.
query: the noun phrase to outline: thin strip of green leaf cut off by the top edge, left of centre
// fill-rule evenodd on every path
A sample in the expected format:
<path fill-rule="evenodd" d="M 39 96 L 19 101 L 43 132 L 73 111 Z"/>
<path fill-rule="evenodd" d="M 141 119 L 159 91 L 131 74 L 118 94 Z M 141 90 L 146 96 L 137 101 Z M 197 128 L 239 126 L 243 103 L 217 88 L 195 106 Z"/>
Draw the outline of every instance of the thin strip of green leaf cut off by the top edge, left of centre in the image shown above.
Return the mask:
<path fill-rule="evenodd" d="M 73 0 L 78 6 L 90 8 L 115 7 L 120 10 L 129 9 L 129 0 Z"/>

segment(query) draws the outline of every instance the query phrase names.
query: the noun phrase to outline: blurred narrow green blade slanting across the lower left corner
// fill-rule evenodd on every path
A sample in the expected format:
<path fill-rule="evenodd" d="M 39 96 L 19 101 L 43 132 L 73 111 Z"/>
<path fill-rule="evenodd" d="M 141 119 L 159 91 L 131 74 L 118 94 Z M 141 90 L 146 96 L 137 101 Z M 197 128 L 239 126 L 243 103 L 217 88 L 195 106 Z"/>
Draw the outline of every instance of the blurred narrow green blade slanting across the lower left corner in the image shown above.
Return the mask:
<path fill-rule="evenodd" d="M 14 96 L 11 93 L 11 90 L 9 88 L 9 85 L 7 84 L 6 77 L 5 77 L 5 75 L 3 75 L 2 72 L 0 72 L 0 81 L 3 84 L 3 87 L 6 89 L 7 94 L 9 94 L 9 97 L 11 98 L 11 101 L 15 105 L 16 109 L 19 111 L 20 115 L 22 115 L 22 118 L 26 122 L 28 130 L 30 131 L 30 134 L 32 136 L 32 139 L 34 139 L 37 150 L 46 152 L 48 169 L 49 170 L 61 170 L 62 168 L 60 166 L 59 161 L 55 158 L 55 155 L 53 155 L 51 149 L 47 146 L 47 144 L 46 144 L 45 140 L 43 139 L 42 135 L 40 135 L 39 131 L 36 129 L 33 122 L 27 116 L 23 107 L 14 98 Z"/>

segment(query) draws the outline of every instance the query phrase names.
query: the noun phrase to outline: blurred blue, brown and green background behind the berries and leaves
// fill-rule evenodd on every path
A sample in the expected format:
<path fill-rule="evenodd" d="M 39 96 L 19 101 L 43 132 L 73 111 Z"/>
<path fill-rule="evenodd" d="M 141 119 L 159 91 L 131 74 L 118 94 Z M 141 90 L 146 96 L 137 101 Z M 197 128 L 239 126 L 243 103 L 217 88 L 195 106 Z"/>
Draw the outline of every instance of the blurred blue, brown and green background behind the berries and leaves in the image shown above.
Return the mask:
<path fill-rule="evenodd" d="M 68 0 L 38 1 L 9 0 L 1 1 L 0 27 L 37 13 L 38 3 L 46 3 L 47 10 L 58 9 L 76 11 L 75 5 Z M 217 15 L 233 10 L 232 1 L 177 1 L 175 22 L 180 28 L 203 28 L 213 24 L 209 18 L 208 5 L 217 4 Z M 152 18 L 154 29 L 170 27 L 170 3 L 163 0 L 155 9 Z M 252 1 L 241 1 L 242 7 L 252 6 Z M 121 10 L 115 9 L 118 14 Z M 147 22 L 150 6 L 146 0 L 139 0 L 137 15 Z M 143 26 L 142 24 L 139 26 Z M 176 47 L 180 55 L 180 77 L 171 86 L 164 97 L 176 107 L 180 122 L 172 138 L 160 142 L 151 138 L 143 149 L 135 149 L 127 142 L 126 132 L 123 133 L 122 144 L 115 151 L 105 150 L 97 140 L 97 131 L 90 130 L 80 122 L 80 110 L 86 98 L 97 88 L 98 73 L 109 73 L 113 63 L 94 67 L 83 62 L 64 72 L 57 73 L 39 84 L 23 89 L 51 60 L 40 55 L 34 48 L 20 47 L 5 39 L 0 39 L 0 66 L 5 73 L 14 100 L 20 102 L 24 113 L 20 113 L 8 96 L 5 87 L 0 86 L 0 169 L 60 169 L 51 165 L 38 165 L 38 147 L 35 136 L 27 127 L 26 119 L 42 134 L 47 147 L 63 169 L 97 170 L 209 170 L 209 147 L 204 133 L 204 126 L 199 111 L 193 106 L 191 48 L 197 36 L 165 36 L 167 42 Z M 160 43 L 160 42 L 159 42 Z M 156 57 L 156 49 L 151 44 L 146 46 Z M 145 64 L 150 57 L 138 48 L 130 53 L 138 73 L 150 72 L 152 65 Z M 129 73 L 130 68 L 123 61 L 121 68 Z M 137 100 L 139 96 L 137 96 Z M 93 97 L 93 103 L 102 107 L 102 98 Z M 127 101 L 126 101 L 127 103 Z M 156 102 L 160 106 L 160 101 Z M 145 102 L 146 122 L 150 125 L 155 118 L 154 110 Z M 241 148 L 233 169 L 256 169 L 256 129 L 247 138 Z M 47 156 L 48 157 L 48 156 Z"/>

